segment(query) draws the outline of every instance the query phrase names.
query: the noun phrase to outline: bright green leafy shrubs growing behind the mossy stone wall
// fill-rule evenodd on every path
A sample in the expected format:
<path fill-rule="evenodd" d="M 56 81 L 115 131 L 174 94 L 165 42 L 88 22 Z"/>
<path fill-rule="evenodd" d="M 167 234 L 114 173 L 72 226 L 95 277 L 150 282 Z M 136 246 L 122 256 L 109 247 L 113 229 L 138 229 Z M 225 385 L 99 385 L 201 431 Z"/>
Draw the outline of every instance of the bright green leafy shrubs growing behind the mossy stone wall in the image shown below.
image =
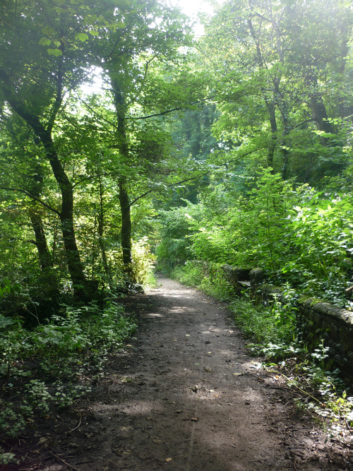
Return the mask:
<path fill-rule="evenodd" d="M 169 210 L 157 248 L 160 266 L 193 259 L 260 266 L 277 285 L 289 282 L 349 309 L 351 194 L 295 186 L 268 169 L 247 181 L 241 194 L 220 183 L 204 192 L 200 203 Z"/>

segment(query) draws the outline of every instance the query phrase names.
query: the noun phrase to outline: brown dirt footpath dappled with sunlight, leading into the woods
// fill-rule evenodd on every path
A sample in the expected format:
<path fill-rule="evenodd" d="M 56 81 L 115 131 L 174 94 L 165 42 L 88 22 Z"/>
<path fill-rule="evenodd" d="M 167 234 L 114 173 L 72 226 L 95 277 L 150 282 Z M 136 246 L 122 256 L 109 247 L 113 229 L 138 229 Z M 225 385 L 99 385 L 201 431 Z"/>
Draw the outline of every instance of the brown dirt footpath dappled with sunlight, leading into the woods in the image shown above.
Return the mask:
<path fill-rule="evenodd" d="M 109 357 L 88 400 L 38 430 L 16 469 L 353 469 L 275 374 L 256 369 L 225 305 L 159 281 L 126 302 L 140 317 L 136 338 Z"/>

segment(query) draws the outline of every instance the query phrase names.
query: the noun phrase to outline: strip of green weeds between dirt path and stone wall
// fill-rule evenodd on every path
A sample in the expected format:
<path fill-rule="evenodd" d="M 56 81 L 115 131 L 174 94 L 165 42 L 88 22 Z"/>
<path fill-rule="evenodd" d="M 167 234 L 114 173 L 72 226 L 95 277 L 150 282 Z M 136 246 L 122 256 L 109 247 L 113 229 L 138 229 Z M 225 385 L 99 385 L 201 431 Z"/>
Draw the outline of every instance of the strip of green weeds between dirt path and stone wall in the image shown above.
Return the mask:
<path fill-rule="evenodd" d="M 284 378 L 287 387 L 299 394 L 297 407 L 321 420 L 328 439 L 353 445 L 353 390 L 345 387 L 338 369 L 328 370 L 328 347 L 323 340 L 313 352 L 308 352 L 301 341 L 296 299 L 289 287 L 282 293 L 281 302 L 273 297 L 263 305 L 253 302 L 247 292 L 241 298 L 235 297 L 222 275 L 212 270 L 205 273 L 200 263 L 186 263 L 170 275 L 228 302 L 249 351 L 264 357 L 263 369 Z"/>

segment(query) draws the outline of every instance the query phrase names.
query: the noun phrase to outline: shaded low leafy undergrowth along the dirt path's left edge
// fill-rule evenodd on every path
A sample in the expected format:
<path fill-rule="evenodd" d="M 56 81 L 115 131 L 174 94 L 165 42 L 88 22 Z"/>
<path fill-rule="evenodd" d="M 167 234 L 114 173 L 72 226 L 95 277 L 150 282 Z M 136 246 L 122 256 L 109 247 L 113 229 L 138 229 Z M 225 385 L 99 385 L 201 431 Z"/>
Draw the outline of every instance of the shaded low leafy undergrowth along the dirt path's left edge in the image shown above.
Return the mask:
<path fill-rule="evenodd" d="M 36 417 L 50 419 L 89 393 L 79 379 L 92 371 L 99 378 L 109 350 L 121 347 L 135 329 L 112 299 L 103 308 L 61 306 L 60 315 L 32 330 L 20 318 L 0 316 L 1 434 L 16 438 Z M 0 464 L 11 459 L 0 448 Z"/>

